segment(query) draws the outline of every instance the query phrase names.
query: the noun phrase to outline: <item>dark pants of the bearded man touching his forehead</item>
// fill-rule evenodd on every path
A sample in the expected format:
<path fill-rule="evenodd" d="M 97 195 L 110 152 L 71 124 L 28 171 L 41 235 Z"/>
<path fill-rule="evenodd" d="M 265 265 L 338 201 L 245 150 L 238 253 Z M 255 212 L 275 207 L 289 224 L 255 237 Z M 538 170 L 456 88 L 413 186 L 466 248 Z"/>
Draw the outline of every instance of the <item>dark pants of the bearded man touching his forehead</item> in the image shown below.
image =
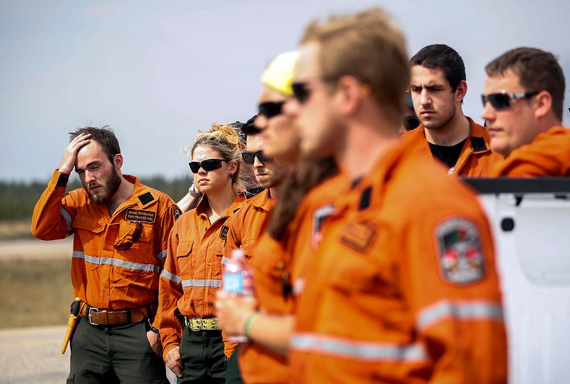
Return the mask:
<path fill-rule="evenodd" d="M 78 320 L 71 338 L 67 383 L 164 383 L 165 363 L 147 339 L 147 321 L 129 326 L 92 326 Z"/>

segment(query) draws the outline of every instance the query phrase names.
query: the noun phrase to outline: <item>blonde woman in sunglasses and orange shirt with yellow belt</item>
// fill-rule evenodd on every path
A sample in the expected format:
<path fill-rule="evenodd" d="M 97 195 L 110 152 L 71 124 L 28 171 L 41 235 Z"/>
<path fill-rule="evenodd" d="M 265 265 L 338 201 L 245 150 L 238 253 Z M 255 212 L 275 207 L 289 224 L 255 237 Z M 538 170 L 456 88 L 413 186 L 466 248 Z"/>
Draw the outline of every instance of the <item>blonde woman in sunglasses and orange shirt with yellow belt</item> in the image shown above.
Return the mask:
<path fill-rule="evenodd" d="M 199 133 L 189 151 L 194 185 L 203 197 L 172 227 L 159 294 L 163 356 L 178 383 L 225 381 L 234 343 L 224 347 L 214 297 L 222 284 L 224 224 L 245 202 L 241 152 L 229 125 Z"/>

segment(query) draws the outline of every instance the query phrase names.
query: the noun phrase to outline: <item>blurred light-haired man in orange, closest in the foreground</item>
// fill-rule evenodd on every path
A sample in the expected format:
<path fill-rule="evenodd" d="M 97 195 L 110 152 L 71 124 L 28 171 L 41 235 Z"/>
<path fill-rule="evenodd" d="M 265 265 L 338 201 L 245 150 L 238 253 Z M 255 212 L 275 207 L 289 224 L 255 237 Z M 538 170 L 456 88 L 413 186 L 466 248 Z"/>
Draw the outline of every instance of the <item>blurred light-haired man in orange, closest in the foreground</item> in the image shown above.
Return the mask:
<path fill-rule="evenodd" d="M 333 156 L 352 187 L 306 264 L 291 383 L 506 382 L 489 223 L 470 190 L 400 140 L 408 83 L 403 33 L 383 11 L 306 28 L 284 110 L 302 155 Z"/>

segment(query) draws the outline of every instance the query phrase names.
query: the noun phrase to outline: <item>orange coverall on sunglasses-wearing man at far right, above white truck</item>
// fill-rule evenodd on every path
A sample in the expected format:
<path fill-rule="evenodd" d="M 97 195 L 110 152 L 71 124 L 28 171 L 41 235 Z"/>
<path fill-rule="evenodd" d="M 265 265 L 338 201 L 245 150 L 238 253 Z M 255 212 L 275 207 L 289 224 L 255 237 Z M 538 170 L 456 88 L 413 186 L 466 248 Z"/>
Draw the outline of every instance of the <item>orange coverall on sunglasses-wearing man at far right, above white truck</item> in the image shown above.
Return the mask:
<path fill-rule="evenodd" d="M 570 129 L 550 128 L 493 167 L 496 177 L 570 176 Z"/>

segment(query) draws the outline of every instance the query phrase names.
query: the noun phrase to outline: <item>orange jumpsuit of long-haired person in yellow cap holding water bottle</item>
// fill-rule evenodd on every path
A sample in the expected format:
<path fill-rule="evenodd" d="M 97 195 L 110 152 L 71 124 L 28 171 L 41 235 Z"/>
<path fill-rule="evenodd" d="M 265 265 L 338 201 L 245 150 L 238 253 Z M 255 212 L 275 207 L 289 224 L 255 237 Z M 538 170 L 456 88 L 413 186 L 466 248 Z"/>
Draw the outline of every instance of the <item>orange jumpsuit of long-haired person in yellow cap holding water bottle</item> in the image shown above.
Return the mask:
<path fill-rule="evenodd" d="M 281 241 L 267 232 L 249 259 L 254 270 L 255 296 L 259 310 L 271 314 L 292 314 L 300 293 L 310 258 L 320 240 L 326 217 L 332 213 L 331 202 L 348 190 L 346 177 L 336 175 L 324 180 L 306 195 Z M 279 331 L 279 330 L 276 330 Z M 286 383 L 287 359 L 254 342 L 242 344 L 239 368 L 247 384 Z"/>

